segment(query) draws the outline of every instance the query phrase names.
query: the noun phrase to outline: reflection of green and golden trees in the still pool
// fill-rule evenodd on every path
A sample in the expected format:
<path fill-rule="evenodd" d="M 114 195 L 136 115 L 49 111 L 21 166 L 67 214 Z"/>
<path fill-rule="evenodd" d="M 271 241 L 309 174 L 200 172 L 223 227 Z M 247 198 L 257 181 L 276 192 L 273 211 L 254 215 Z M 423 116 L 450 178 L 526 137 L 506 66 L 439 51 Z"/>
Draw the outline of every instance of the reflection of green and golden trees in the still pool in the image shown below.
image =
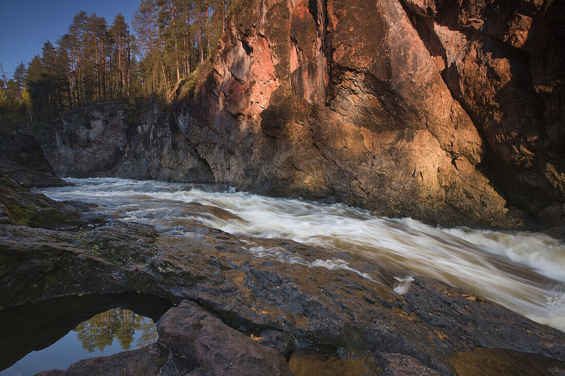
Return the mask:
<path fill-rule="evenodd" d="M 157 328 L 148 317 L 139 316 L 129 309 L 112 308 L 80 323 L 75 329 L 76 338 L 88 352 L 102 351 L 110 346 L 114 338 L 124 350 L 132 347 L 133 336 L 141 331 L 137 347 L 157 341 Z"/>

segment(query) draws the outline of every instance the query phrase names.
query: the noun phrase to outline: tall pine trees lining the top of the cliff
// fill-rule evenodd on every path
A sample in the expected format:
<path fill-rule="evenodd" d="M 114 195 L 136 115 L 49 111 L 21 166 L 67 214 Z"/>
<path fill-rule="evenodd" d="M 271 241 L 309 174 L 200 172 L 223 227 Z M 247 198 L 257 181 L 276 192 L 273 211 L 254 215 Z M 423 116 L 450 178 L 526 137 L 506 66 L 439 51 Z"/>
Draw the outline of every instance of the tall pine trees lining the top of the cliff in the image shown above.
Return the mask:
<path fill-rule="evenodd" d="M 168 97 L 212 55 L 233 1 L 141 0 L 131 28 L 121 13 L 108 26 L 79 12 L 14 77 L 2 68 L 0 123 L 51 120 L 108 99 Z"/>

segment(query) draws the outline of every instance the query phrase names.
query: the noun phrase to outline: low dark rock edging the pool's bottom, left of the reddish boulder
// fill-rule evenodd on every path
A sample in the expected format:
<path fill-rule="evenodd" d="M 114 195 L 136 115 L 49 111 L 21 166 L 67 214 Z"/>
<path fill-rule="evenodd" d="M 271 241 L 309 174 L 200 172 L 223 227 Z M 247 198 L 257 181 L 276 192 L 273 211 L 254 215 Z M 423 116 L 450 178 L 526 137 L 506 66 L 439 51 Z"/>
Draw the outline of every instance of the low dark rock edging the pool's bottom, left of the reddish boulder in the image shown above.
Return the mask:
<path fill-rule="evenodd" d="M 154 376 L 167 361 L 168 350 L 158 343 L 110 356 L 79 360 L 67 370 L 43 371 L 35 376 Z"/>

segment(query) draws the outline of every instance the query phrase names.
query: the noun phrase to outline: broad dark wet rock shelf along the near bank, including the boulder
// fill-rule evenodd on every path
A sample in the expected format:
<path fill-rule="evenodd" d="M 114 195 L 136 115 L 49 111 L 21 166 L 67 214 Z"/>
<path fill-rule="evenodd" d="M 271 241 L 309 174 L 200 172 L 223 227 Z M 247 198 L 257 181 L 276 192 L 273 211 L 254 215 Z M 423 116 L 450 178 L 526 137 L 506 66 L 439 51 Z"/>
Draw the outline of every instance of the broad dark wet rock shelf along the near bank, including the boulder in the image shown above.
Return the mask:
<path fill-rule="evenodd" d="M 178 307 L 159 321 L 159 345 L 47 374 L 159 368 L 171 375 L 244 368 L 292 374 L 289 365 L 300 374 L 301 351 L 320 347 L 334 352 L 325 364 L 348 362 L 343 369 L 363 374 L 457 374 L 450 356 L 475 348 L 506 349 L 521 359 L 534 354 L 565 369 L 565 335 L 557 329 L 429 278 L 416 278 L 398 294 L 390 271 L 358 255 L 339 257 L 365 277 L 313 266 L 332 259 L 323 248 L 230 235 L 197 222 L 185 237 L 110 219 L 92 225 L 75 231 L 0 225 L 0 307 L 126 291 Z M 276 252 L 258 257 L 254 247 L 283 248 L 304 262 L 289 263 Z M 294 360 L 287 365 L 284 356 Z"/>

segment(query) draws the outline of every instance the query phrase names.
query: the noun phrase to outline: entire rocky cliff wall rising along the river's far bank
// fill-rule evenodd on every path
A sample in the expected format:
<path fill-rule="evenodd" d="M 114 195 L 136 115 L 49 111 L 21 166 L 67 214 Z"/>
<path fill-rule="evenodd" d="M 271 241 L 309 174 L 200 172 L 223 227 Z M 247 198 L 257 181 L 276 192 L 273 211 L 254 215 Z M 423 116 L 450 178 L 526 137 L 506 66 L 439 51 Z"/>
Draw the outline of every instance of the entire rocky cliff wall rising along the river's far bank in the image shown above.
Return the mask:
<path fill-rule="evenodd" d="M 168 110 L 68 115 L 47 158 L 445 226 L 563 220 L 562 4 L 243 0 Z"/>

